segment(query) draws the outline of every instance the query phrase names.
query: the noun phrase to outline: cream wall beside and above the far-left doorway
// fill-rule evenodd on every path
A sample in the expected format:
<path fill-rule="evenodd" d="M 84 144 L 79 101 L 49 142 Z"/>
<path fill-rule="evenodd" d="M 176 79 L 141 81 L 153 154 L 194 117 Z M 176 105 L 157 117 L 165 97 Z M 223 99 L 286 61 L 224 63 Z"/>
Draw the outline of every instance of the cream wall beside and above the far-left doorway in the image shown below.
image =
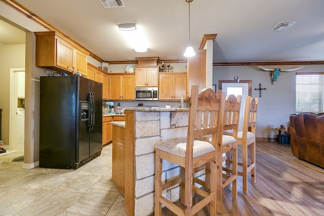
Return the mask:
<path fill-rule="evenodd" d="M 25 67 L 25 45 L 0 47 L 0 109 L 2 111 L 1 139 L 9 145 L 10 68 Z"/>

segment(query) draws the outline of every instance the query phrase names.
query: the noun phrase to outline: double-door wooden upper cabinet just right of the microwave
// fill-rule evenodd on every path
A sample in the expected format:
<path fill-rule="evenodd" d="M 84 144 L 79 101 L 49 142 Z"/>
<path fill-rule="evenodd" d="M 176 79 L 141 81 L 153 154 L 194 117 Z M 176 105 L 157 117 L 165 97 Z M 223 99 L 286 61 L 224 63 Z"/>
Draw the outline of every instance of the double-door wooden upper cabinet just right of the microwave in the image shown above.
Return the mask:
<path fill-rule="evenodd" d="M 159 100 L 173 101 L 187 98 L 187 73 L 159 73 Z"/>

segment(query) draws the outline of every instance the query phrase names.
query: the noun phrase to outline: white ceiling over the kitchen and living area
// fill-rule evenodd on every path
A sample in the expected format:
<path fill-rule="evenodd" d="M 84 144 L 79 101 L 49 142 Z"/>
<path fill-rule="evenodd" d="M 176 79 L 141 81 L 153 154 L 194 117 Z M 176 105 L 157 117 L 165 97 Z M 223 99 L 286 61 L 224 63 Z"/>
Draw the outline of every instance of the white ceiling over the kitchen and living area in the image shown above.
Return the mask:
<path fill-rule="evenodd" d="M 186 59 L 185 0 L 123 0 L 125 7 L 107 9 L 97 0 L 16 2 L 104 61 L 152 56 Z M 214 63 L 323 61 L 323 9 L 322 0 L 194 0 L 191 46 L 198 49 L 204 34 L 217 34 Z M 297 23 L 286 31 L 270 31 L 281 21 Z M 129 22 L 136 22 L 146 33 L 148 52 L 136 53 L 121 37 L 117 24 Z"/>

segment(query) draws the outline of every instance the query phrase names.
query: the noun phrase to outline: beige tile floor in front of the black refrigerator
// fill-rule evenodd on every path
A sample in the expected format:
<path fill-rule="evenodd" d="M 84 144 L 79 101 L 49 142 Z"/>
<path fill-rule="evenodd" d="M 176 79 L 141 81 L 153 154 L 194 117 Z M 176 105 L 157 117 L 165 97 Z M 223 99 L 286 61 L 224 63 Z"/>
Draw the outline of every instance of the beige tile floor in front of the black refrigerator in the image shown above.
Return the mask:
<path fill-rule="evenodd" d="M 111 180 L 112 145 L 76 170 L 23 169 L 0 154 L 0 215 L 127 215 L 124 197 Z"/>

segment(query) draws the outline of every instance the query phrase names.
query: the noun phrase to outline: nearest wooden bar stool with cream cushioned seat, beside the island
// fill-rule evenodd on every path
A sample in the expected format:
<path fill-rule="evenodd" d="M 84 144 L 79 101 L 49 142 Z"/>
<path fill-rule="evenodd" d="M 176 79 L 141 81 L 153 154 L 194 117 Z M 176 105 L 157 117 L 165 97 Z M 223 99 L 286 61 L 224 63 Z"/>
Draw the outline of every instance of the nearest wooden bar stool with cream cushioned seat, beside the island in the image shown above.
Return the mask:
<path fill-rule="evenodd" d="M 162 204 L 177 215 L 193 215 L 210 204 L 210 214 L 216 215 L 216 181 L 210 184 L 210 192 L 193 184 L 193 170 L 201 164 L 210 163 L 211 179 L 216 179 L 216 148 L 220 142 L 225 94 L 204 89 L 198 94 L 198 85 L 192 85 L 188 134 L 185 139 L 159 143 L 155 146 L 155 208 L 154 214 L 161 215 Z M 211 135 L 212 142 L 195 140 L 199 136 Z M 180 166 L 178 178 L 161 181 L 162 161 L 167 160 Z M 184 206 L 180 207 L 164 197 L 163 191 L 180 184 Z M 195 205 L 193 194 L 203 197 Z M 182 200 L 183 201 L 183 200 Z"/>

